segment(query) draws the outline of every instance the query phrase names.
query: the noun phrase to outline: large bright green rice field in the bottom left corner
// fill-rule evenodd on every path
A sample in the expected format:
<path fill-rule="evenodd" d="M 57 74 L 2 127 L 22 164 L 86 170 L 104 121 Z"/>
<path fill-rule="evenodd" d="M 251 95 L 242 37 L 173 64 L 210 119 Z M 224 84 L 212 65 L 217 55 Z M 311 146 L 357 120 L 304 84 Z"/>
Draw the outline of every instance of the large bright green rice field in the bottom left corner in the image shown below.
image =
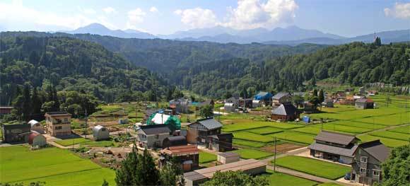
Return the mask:
<path fill-rule="evenodd" d="M 0 147 L 0 182 L 45 181 L 47 185 L 115 185 L 115 172 L 68 150 L 27 146 Z M 98 176 L 96 176 L 98 175 Z M 73 180 L 73 182 L 69 182 Z"/>

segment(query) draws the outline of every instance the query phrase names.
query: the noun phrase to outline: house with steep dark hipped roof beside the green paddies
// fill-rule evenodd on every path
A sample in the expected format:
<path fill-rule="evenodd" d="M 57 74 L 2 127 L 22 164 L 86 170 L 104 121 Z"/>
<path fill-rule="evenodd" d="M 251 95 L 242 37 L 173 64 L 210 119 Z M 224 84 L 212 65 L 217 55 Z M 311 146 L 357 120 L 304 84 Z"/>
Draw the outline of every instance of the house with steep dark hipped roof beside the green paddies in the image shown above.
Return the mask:
<path fill-rule="evenodd" d="M 293 121 L 297 118 L 299 118 L 298 109 L 291 103 L 281 104 L 271 113 L 271 120 Z"/>

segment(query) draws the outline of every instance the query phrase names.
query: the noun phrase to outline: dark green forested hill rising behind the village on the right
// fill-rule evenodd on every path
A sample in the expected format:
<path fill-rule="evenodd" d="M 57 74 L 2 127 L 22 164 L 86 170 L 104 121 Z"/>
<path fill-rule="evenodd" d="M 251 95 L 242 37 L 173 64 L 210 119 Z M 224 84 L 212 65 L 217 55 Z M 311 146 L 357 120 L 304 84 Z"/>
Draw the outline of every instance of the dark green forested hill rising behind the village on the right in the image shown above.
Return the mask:
<path fill-rule="evenodd" d="M 300 91 L 303 82 L 319 80 L 362 86 L 385 82 L 410 84 L 410 44 L 392 45 L 353 42 L 327 47 L 312 54 L 278 57 L 263 63 L 248 59 L 198 64 L 188 70 L 181 82 L 186 88 L 216 97 L 228 93 L 254 95 L 256 91 Z"/>

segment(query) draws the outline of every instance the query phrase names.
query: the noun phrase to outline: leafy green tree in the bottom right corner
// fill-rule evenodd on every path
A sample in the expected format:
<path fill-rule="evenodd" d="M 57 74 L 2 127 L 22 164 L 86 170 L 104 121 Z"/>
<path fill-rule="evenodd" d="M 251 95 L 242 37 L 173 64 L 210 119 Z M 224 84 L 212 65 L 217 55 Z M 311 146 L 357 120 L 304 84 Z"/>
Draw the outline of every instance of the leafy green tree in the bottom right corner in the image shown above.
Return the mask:
<path fill-rule="evenodd" d="M 389 158 L 382 163 L 381 185 L 410 185 L 409 165 L 410 145 L 394 148 Z"/>

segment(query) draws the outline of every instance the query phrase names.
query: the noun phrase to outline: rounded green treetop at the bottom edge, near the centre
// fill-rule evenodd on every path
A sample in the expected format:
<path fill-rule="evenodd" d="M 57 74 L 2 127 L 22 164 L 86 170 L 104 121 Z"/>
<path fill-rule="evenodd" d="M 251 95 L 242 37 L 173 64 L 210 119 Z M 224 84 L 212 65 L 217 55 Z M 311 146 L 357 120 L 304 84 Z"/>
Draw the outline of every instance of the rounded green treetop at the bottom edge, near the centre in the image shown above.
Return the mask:
<path fill-rule="evenodd" d="M 257 176 L 252 178 L 252 176 L 242 173 L 241 171 L 227 171 L 227 172 L 216 172 L 213 174 L 213 178 L 204 183 L 204 186 L 230 186 L 230 185 L 256 185 L 265 186 L 269 185 L 268 180 L 264 176 Z"/>

